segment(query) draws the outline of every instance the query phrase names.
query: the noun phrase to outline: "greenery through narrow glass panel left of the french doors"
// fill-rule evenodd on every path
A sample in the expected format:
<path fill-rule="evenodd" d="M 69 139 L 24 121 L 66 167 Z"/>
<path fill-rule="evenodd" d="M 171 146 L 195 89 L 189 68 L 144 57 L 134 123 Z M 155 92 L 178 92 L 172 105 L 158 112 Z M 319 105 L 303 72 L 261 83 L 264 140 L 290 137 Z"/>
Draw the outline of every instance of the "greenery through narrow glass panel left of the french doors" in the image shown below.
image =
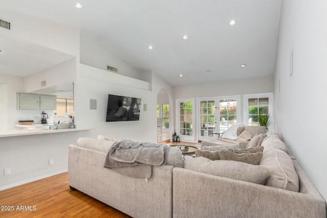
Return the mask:
<path fill-rule="evenodd" d="M 179 103 L 179 134 L 192 135 L 193 102 Z"/>

